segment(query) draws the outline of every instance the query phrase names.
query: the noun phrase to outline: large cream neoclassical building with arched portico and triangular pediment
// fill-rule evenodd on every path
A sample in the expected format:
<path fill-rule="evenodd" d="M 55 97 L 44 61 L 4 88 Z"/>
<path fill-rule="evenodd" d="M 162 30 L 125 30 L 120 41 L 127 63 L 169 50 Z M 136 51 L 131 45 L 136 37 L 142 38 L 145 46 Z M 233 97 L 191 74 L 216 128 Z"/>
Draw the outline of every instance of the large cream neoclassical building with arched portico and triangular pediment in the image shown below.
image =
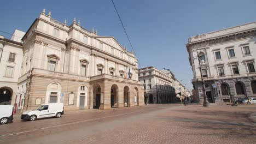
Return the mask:
<path fill-rule="evenodd" d="M 67 26 L 43 10 L 22 42 L 18 86 L 26 83 L 24 109 L 44 103 L 63 103 L 65 110 L 144 103 L 137 58 L 113 37 L 88 31 L 76 19 Z"/>

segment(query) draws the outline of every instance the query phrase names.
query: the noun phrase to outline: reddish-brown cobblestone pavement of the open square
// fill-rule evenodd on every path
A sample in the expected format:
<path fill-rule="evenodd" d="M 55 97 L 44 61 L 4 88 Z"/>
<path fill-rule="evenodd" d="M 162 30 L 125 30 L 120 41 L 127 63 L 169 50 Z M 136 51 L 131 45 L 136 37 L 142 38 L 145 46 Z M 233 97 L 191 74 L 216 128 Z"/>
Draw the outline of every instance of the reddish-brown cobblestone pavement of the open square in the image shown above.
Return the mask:
<path fill-rule="evenodd" d="M 256 105 L 148 105 L 0 125 L 0 143 L 255 143 Z"/>

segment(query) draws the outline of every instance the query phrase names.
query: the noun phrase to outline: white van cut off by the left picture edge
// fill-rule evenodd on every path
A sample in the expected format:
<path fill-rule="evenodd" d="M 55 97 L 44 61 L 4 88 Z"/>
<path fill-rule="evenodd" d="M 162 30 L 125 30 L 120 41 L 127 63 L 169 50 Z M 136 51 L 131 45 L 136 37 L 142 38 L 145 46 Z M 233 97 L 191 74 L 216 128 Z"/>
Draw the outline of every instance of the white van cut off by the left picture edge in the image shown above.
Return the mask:
<path fill-rule="evenodd" d="M 13 122 L 13 105 L 0 105 L 0 124 Z"/>

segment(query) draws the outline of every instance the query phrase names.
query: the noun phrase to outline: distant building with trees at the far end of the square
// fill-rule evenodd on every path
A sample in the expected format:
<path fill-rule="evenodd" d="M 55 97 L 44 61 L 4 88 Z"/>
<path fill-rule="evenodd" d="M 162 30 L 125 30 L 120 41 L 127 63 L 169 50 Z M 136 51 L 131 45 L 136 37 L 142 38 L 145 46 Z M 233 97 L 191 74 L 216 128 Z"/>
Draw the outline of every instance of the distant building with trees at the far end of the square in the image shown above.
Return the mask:
<path fill-rule="evenodd" d="M 144 97 L 149 104 L 175 103 L 179 100 L 178 93 L 182 91 L 183 86 L 169 69 L 141 68 L 138 76 L 144 87 Z M 177 83 L 179 84 L 176 85 Z"/>

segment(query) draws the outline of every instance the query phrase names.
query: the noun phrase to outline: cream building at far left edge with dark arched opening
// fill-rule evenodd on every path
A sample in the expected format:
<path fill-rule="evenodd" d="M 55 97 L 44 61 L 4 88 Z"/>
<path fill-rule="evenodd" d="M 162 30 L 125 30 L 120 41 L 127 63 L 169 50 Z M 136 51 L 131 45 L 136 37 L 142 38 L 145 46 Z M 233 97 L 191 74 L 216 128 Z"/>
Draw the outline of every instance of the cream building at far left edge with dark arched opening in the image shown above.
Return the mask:
<path fill-rule="evenodd" d="M 14 34 L 22 35 L 17 29 Z M 22 106 L 22 97 L 18 88 L 23 47 L 19 38 L 4 38 L 0 35 L 0 104 L 15 106 L 15 112 Z"/>

